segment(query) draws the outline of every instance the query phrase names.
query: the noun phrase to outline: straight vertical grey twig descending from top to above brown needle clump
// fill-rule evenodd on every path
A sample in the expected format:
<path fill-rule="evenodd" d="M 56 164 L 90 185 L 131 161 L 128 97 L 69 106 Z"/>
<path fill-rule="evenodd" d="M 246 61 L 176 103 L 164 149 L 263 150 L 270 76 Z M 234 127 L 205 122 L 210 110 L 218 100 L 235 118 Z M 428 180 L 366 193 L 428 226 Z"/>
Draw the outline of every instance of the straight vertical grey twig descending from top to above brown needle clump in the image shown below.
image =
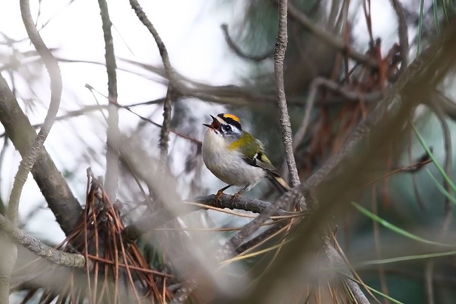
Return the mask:
<path fill-rule="evenodd" d="M 106 73 L 108 77 L 108 99 L 117 103 L 117 73 L 116 56 L 114 55 L 114 45 L 112 43 L 111 20 L 106 0 L 98 0 L 100 7 L 101 22 L 104 36 Z M 116 201 L 116 193 L 119 182 L 119 112 L 118 108 L 109 103 L 106 132 L 106 174 L 105 186 L 106 193 L 112 201 Z"/>

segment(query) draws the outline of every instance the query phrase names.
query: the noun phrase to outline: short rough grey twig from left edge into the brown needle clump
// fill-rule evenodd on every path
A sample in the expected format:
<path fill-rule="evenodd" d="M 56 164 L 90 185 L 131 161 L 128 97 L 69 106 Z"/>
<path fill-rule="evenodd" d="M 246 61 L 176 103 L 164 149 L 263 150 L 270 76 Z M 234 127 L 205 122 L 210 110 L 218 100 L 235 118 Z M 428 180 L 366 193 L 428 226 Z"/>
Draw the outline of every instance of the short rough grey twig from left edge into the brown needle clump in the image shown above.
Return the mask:
<path fill-rule="evenodd" d="M 27 234 L 23 230 L 15 227 L 1 214 L 0 229 L 2 229 L 2 231 L 6 232 L 11 238 L 13 238 L 16 243 L 21 244 L 30 252 L 33 252 L 34 254 L 41 256 L 52 263 L 72 268 L 84 268 L 86 265 L 86 259 L 83 255 L 64 252 L 50 247 Z"/>

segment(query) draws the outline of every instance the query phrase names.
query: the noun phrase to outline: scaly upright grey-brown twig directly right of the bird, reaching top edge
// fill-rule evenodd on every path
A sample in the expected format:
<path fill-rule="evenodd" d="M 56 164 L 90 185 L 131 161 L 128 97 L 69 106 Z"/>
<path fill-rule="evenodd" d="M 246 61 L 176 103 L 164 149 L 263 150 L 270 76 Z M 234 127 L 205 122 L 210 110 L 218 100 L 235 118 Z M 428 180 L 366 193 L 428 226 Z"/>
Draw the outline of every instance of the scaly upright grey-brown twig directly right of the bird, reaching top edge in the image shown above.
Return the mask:
<path fill-rule="evenodd" d="M 279 1 L 279 29 L 277 32 L 276 47 L 274 49 L 274 78 L 276 81 L 276 94 L 280 112 L 280 131 L 285 147 L 285 159 L 293 186 L 299 184 L 299 175 L 293 155 L 293 136 L 291 133 L 290 117 L 288 116 L 287 100 L 283 82 L 283 61 L 288 43 L 287 32 L 287 1 Z"/>

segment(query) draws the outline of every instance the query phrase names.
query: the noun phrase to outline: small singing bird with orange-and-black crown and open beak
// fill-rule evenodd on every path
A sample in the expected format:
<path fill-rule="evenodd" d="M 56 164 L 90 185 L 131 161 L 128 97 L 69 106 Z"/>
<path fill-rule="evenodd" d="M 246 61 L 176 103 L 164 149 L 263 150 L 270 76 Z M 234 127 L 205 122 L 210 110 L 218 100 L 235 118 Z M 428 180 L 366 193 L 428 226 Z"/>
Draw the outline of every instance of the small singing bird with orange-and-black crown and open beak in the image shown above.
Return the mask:
<path fill-rule="evenodd" d="M 243 186 L 237 198 L 263 178 L 281 193 L 290 189 L 266 156 L 264 144 L 242 130 L 238 117 L 225 113 L 210 117 L 212 123 L 203 124 L 209 128 L 203 137 L 203 161 L 212 174 L 228 184 L 217 192 L 216 199 L 230 186 Z"/>

